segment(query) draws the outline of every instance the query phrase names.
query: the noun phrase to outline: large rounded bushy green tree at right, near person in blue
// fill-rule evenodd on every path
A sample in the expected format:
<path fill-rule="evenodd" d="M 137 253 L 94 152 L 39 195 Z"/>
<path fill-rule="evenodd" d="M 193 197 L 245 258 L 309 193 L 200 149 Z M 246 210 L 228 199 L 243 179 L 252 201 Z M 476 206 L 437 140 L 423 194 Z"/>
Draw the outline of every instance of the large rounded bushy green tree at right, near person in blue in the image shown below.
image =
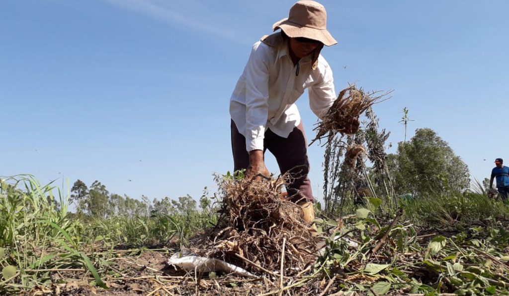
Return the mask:
<path fill-rule="evenodd" d="M 469 188 L 468 166 L 433 129 L 418 128 L 409 142 L 400 142 L 398 152 L 387 158 L 397 193 L 417 196 Z"/>

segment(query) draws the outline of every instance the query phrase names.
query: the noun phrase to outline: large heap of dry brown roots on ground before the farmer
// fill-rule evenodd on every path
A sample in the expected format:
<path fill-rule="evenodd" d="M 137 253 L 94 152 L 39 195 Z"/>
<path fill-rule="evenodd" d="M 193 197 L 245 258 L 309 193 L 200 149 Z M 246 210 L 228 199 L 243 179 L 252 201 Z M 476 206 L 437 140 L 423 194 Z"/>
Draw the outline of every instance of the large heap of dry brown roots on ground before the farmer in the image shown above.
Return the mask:
<path fill-rule="evenodd" d="M 278 183 L 279 182 L 279 183 Z M 296 273 L 316 260 L 316 238 L 301 209 L 279 194 L 280 179 L 220 183 L 223 205 L 217 226 L 192 249 L 253 272 Z"/>

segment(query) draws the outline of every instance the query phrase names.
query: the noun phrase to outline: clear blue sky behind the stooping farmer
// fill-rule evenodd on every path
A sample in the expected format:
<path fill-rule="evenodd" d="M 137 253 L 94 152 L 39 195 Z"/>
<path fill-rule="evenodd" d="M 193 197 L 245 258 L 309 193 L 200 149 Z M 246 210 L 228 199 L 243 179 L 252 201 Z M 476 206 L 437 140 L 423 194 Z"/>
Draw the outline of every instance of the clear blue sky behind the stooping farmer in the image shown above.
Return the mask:
<path fill-rule="evenodd" d="M 3 1 L 0 175 L 99 180 L 133 198 L 198 198 L 214 172 L 233 167 L 228 105 L 250 47 L 293 3 Z M 415 120 L 408 137 L 434 129 L 473 177 L 489 177 L 494 158 L 509 159 L 508 2 L 321 3 L 339 42 L 322 51 L 336 92 L 352 82 L 393 89 L 375 107 L 393 146 L 407 107 Z M 313 138 L 307 95 L 297 105 Z M 318 196 L 322 154 L 309 148 Z"/>

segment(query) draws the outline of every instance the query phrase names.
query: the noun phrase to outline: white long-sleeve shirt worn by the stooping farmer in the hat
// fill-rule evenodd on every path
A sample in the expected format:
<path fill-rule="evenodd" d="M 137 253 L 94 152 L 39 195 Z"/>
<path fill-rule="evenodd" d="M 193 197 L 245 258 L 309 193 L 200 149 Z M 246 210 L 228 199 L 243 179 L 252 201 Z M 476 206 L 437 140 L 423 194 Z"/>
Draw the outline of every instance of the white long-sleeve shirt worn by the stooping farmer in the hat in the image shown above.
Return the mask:
<path fill-rule="evenodd" d="M 300 123 L 295 102 L 308 89 L 309 107 L 322 119 L 336 95 L 332 70 L 318 56 L 316 69 L 312 57 L 301 58 L 294 65 L 288 43 L 269 46 L 263 42 L 253 45 L 249 60 L 230 98 L 230 115 L 246 138 L 246 150 L 263 150 L 265 129 L 288 138 Z"/>

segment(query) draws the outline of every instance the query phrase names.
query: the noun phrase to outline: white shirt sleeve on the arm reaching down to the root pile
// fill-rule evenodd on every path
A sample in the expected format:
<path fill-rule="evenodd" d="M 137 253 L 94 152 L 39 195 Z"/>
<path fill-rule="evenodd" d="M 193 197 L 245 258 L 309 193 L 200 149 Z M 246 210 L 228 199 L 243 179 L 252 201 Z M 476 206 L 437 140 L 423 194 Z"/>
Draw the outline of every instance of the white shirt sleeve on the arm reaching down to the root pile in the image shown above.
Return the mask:
<path fill-rule="evenodd" d="M 244 69 L 246 78 L 246 150 L 263 150 L 268 117 L 269 51 L 267 45 L 253 46 Z"/>

